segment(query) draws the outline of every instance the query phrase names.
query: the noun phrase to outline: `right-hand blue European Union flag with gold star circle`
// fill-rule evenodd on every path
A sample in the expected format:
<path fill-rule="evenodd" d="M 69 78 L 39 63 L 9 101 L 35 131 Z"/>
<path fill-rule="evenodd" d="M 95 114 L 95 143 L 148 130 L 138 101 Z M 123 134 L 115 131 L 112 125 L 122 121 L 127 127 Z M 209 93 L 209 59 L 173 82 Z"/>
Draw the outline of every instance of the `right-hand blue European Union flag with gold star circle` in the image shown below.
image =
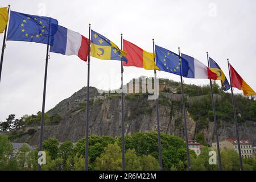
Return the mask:
<path fill-rule="evenodd" d="M 188 61 L 176 53 L 155 45 L 156 66 L 160 71 L 175 75 L 188 75 Z M 182 68 L 182 69 L 181 69 Z"/>

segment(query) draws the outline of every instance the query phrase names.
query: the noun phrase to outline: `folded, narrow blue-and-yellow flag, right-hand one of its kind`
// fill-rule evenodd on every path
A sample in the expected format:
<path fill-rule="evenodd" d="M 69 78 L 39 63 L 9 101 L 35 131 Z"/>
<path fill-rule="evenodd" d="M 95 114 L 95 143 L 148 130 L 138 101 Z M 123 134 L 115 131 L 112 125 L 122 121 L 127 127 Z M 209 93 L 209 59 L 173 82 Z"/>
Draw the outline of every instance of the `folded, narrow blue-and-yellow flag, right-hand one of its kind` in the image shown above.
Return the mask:
<path fill-rule="evenodd" d="M 226 78 L 224 72 L 221 70 L 218 64 L 210 57 L 209 57 L 209 63 L 210 63 L 210 71 L 217 74 L 218 76 L 217 80 L 221 80 L 222 90 L 224 91 L 229 90 L 230 89 L 229 81 Z"/>

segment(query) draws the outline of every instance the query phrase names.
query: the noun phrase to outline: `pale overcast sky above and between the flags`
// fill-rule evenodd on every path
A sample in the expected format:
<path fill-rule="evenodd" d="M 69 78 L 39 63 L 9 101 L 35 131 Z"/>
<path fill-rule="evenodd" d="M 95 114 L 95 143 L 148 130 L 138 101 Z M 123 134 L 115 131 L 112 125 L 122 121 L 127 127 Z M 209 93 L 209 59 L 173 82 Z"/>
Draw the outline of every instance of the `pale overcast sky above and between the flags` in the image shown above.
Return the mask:
<path fill-rule="evenodd" d="M 92 29 L 121 46 L 123 38 L 152 52 L 158 46 L 191 55 L 207 64 L 206 52 L 228 76 L 226 59 L 256 90 L 256 1 L 129 0 L 129 1 L 1 1 L 1 7 L 32 15 L 56 18 L 61 26 L 88 38 Z M 0 35 L 2 45 L 3 34 Z M 42 110 L 46 45 L 7 42 L 0 83 L 0 121 L 9 114 L 22 117 Z M 90 85 L 115 89 L 121 84 L 119 61 L 92 57 Z M 154 71 L 125 67 L 124 83 Z M 158 77 L 179 81 L 180 77 L 158 72 Z M 77 56 L 51 53 L 48 64 L 46 110 L 86 86 L 87 64 Z M 204 85 L 209 80 L 184 78 L 186 84 Z M 230 91 L 229 91 L 230 92 Z M 242 93 L 235 89 L 235 93 Z"/>

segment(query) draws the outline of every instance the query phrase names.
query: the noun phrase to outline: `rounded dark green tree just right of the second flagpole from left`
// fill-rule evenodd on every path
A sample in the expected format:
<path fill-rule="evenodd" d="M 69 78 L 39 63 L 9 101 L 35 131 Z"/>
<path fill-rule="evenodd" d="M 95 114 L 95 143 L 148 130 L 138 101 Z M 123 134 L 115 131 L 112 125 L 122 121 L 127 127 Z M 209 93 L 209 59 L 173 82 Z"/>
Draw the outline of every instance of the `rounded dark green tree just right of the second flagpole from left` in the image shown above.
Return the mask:
<path fill-rule="evenodd" d="M 51 159 L 56 159 L 59 152 L 59 141 L 55 138 L 49 138 L 48 140 L 43 142 L 43 150 L 47 150 Z"/>

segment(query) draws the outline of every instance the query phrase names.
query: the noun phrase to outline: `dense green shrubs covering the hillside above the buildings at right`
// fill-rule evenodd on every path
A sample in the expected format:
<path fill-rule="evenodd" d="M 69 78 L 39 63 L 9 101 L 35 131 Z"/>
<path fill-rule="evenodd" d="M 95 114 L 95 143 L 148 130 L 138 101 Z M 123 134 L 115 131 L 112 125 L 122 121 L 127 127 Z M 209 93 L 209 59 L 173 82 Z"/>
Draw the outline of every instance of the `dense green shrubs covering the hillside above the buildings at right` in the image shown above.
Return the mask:
<path fill-rule="evenodd" d="M 225 122 L 233 122 L 233 105 L 230 94 L 222 91 L 219 91 L 218 93 L 219 95 L 214 95 L 217 119 Z M 220 98 L 217 98 L 217 96 Z M 234 100 L 236 103 L 238 122 L 242 123 L 246 120 L 256 121 L 256 101 L 250 100 L 239 94 L 234 95 Z M 213 122 L 210 94 L 202 96 L 199 100 L 192 101 L 191 104 L 189 104 L 188 111 L 191 114 L 191 117 L 199 122 L 200 129 L 207 127 L 208 118 L 209 121 Z M 241 117 L 238 114 L 241 114 Z"/>

